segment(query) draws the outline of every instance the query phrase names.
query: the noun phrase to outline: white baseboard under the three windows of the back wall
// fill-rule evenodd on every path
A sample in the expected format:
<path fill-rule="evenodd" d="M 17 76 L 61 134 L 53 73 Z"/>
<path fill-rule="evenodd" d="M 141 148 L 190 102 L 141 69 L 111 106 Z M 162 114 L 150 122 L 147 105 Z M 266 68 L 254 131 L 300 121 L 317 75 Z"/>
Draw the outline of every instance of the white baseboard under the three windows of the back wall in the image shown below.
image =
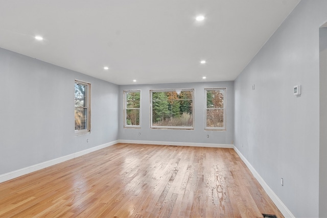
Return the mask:
<path fill-rule="evenodd" d="M 208 148 L 229 148 L 232 149 L 233 144 L 213 144 L 213 143 L 192 143 L 192 142 L 174 142 L 174 141 L 142 141 L 142 140 L 118 140 L 119 143 L 132 144 L 160 144 L 163 146 L 194 146 Z"/>

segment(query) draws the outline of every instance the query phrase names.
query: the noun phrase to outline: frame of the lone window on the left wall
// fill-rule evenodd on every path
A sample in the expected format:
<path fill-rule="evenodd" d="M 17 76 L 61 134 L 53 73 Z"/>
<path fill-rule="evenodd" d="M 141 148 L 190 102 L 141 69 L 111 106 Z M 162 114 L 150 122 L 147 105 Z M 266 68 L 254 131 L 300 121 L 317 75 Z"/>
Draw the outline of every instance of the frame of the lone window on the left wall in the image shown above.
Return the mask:
<path fill-rule="evenodd" d="M 84 85 L 85 86 L 85 107 L 78 107 L 78 108 L 85 108 L 86 109 L 86 129 L 84 130 L 75 130 L 75 135 L 84 135 L 91 132 L 91 84 L 88 82 L 84 82 L 81 80 L 75 80 L 75 84 Z M 74 88 L 75 90 L 75 88 Z M 75 93 L 74 93 L 75 99 Z M 75 105 L 74 105 L 75 108 Z M 75 109 L 74 109 L 75 114 Z M 75 129 L 75 115 L 74 115 L 74 129 Z"/>

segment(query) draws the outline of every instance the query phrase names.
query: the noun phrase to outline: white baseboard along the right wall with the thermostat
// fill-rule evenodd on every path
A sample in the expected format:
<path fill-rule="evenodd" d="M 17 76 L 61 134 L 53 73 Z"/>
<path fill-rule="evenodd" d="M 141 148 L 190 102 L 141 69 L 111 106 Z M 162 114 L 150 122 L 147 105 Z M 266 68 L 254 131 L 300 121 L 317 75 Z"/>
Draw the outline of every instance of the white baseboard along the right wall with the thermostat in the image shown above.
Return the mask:
<path fill-rule="evenodd" d="M 267 195 L 270 197 L 270 199 L 274 202 L 276 207 L 281 211 L 281 213 L 285 217 L 292 217 L 295 218 L 295 216 L 292 214 L 292 212 L 285 206 L 285 204 L 277 197 L 275 192 L 269 187 L 269 185 L 265 182 L 265 180 L 259 175 L 258 172 L 254 169 L 254 167 L 250 164 L 250 162 L 242 155 L 242 153 L 234 146 L 234 150 L 236 153 L 240 156 L 240 158 L 243 160 L 245 165 L 250 169 L 251 173 L 255 177 L 256 180 L 260 183 L 260 185 L 264 188 Z"/>

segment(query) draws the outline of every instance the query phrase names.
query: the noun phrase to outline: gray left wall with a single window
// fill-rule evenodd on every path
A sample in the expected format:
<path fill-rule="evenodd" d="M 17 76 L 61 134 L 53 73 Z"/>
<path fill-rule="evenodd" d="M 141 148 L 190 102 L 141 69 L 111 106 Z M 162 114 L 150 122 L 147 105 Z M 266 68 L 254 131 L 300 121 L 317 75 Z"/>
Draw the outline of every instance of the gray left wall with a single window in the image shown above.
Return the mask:
<path fill-rule="evenodd" d="M 75 79 L 91 83 L 91 133 L 81 136 L 74 136 Z M 0 49 L 0 175 L 117 140 L 118 90 Z"/>

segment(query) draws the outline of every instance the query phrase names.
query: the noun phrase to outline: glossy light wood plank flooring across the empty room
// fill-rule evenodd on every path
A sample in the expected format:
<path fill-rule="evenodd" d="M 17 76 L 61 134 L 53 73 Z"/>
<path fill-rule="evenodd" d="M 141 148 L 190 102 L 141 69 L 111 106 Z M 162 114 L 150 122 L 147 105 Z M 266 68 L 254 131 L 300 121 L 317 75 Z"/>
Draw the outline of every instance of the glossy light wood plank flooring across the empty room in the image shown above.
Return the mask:
<path fill-rule="evenodd" d="M 233 149 L 119 143 L 0 183 L 0 217 L 283 217 Z"/>

